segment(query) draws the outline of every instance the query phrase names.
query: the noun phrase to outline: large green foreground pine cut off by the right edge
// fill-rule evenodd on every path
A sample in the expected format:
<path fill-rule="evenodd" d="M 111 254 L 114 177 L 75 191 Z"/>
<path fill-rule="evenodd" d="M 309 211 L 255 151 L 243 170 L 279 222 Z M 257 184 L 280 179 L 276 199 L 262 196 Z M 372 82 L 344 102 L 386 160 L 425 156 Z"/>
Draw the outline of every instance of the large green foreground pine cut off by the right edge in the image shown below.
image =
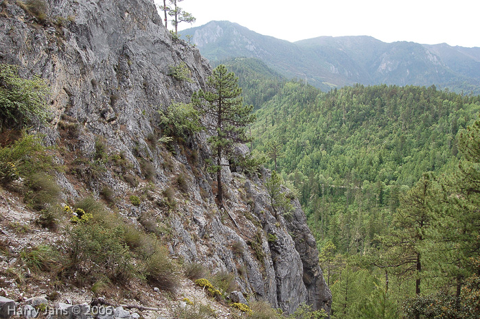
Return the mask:
<path fill-rule="evenodd" d="M 441 191 L 434 210 L 435 244 L 441 252 L 437 259 L 439 275 L 455 285 L 460 300 L 461 287 L 472 274 L 471 259 L 480 256 L 480 121 L 459 134 L 462 158 L 457 169 L 442 178 Z"/>

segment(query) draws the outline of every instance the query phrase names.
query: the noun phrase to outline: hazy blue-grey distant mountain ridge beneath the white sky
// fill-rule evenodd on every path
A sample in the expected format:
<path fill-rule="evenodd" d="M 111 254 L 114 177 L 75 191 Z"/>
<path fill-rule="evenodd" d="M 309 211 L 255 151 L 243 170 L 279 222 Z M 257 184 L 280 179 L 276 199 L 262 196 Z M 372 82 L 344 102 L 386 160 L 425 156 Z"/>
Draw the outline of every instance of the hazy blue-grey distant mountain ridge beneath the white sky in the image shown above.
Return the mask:
<path fill-rule="evenodd" d="M 287 78 L 306 80 L 323 90 L 360 84 L 449 88 L 480 94 L 480 48 L 384 43 L 371 36 L 321 36 L 290 43 L 229 21 L 185 29 L 211 62 L 258 58 Z"/>

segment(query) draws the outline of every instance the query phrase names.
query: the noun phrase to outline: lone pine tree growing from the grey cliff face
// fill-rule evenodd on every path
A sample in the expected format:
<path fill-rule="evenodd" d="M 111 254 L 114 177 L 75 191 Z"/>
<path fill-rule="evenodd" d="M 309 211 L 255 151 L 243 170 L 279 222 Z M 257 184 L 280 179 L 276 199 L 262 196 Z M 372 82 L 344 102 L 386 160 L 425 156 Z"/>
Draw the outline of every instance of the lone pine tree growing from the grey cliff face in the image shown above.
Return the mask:
<path fill-rule="evenodd" d="M 214 158 L 210 172 L 216 173 L 220 206 L 222 201 L 222 156 L 228 157 L 237 143 L 247 143 L 246 128 L 255 120 L 251 114 L 253 106 L 243 104 L 240 96 L 242 88 L 238 86 L 238 78 L 228 72 L 224 65 L 216 67 L 207 80 L 209 91 L 199 90 L 192 95 L 192 102 L 207 117 L 205 128 L 210 134 L 208 139 Z M 216 163 L 215 163 L 216 162 Z"/>

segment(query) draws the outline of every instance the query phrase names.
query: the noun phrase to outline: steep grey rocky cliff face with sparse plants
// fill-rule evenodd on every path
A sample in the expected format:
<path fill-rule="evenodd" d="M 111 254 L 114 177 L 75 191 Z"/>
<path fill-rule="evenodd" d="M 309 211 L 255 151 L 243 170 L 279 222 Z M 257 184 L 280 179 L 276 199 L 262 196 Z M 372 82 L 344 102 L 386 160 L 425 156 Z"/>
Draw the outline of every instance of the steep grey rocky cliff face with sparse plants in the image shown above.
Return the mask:
<path fill-rule="evenodd" d="M 100 198 L 111 189 L 115 210 L 134 221 L 155 217 L 168 229 L 173 256 L 231 272 L 244 294 L 284 311 L 303 302 L 329 311 L 330 290 L 297 200 L 292 218 L 275 217 L 263 186 L 267 171 L 249 178 L 225 168 L 220 211 L 205 169 L 205 135 L 169 147 L 157 142 L 158 110 L 190 102 L 205 88 L 211 67 L 198 50 L 172 38 L 150 0 L 46 4 L 42 22 L 13 1 L 0 1 L 0 62 L 49 82 L 53 115 L 39 130 L 62 150 L 58 162 L 67 169 L 57 181 L 65 200 Z M 191 82 L 170 75 L 181 63 Z M 128 165 L 95 171 L 89 162 L 98 145 Z M 128 201 L 132 194 L 143 196 L 139 206 Z"/>

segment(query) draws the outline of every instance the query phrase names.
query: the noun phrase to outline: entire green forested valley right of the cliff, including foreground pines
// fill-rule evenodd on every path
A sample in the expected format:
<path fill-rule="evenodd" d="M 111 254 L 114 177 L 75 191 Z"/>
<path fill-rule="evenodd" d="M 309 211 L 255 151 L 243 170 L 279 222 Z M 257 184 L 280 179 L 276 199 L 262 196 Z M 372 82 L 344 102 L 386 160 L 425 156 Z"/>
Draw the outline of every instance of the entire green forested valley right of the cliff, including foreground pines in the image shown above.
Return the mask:
<path fill-rule="evenodd" d="M 479 318 L 479 96 L 324 93 L 258 60 L 223 63 L 257 110 L 253 154 L 306 211 L 332 318 Z"/>

